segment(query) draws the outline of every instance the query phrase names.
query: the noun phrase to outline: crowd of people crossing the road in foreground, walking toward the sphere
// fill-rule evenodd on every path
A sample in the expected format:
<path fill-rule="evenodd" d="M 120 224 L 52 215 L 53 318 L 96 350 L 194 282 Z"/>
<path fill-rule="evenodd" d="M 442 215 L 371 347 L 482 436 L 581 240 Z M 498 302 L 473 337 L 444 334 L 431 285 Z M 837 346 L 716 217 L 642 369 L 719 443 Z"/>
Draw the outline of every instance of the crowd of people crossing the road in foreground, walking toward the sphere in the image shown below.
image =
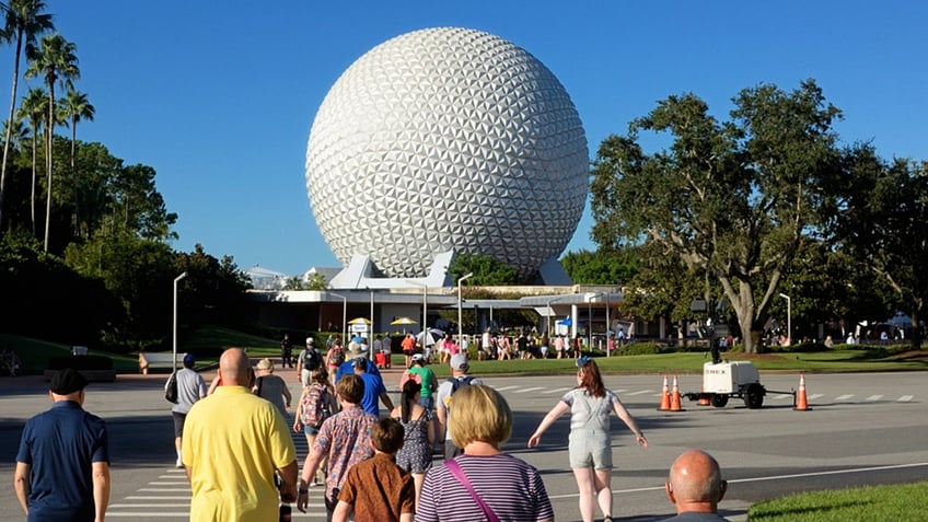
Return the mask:
<path fill-rule="evenodd" d="M 209 390 L 194 371 L 193 357 L 184 360 L 175 375 L 172 417 L 177 465 L 190 482 L 192 521 L 287 520 L 290 504 L 306 510 L 311 488 L 326 520 L 334 521 L 554 520 L 542 473 L 503 451 L 514 422 L 509 404 L 469 374 L 466 352 L 449 353 L 452 376 L 441 382 L 424 353 L 411 353 L 394 405 L 364 346 L 333 340 L 323 351 L 306 339 L 293 361 L 302 391 L 292 424 L 290 392 L 269 359 L 252 367 L 244 350 L 225 350 Z M 544 433 L 569 413 L 568 464 L 580 517 L 595 520 L 599 507 L 602 520 L 611 522 L 612 414 L 639 445 L 647 448 L 648 440 L 618 395 L 605 387 L 595 360 L 580 356 L 576 366 L 576 387 L 542 419 L 526 445 L 540 446 Z M 53 408 L 25 426 L 14 484 L 28 520 L 105 517 L 106 427 L 82 409 L 85 386 L 79 372 L 59 372 L 51 381 Z M 309 443 L 302 469 L 291 430 Z M 78 442 L 72 446 L 65 440 Z M 54 452 L 66 445 L 73 450 Z M 718 503 L 726 488 L 711 455 L 683 453 L 665 484 L 677 511 L 670 520 L 724 520 Z"/>

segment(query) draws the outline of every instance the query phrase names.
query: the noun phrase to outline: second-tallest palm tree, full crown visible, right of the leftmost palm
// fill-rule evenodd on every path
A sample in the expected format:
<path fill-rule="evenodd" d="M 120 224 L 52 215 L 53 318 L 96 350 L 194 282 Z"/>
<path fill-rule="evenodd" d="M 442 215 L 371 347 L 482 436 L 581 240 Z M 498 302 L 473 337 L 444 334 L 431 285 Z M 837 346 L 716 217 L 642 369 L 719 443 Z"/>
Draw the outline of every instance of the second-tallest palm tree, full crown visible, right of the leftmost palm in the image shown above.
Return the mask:
<path fill-rule="evenodd" d="M 45 201 L 45 252 L 48 252 L 48 229 L 51 224 L 51 141 L 55 136 L 55 84 L 73 89 L 73 80 L 80 79 L 77 46 L 58 33 L 45 35 L 39 43 L 38 54 L 31 60 L 26 78 L 42 77 L 48 89 L 48 119 L 45 127 L 45 175 L 48 179 Z"/>

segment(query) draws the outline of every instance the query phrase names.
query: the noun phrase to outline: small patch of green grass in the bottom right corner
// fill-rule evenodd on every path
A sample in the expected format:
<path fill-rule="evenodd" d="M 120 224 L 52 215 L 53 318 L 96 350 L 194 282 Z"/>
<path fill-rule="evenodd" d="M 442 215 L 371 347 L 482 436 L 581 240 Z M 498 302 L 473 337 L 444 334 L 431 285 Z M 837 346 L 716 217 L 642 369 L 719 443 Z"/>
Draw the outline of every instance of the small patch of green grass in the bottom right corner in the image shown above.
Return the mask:
<path fill-rule="evenodd" d="M 758 502 L 747 511 L 751 522 L 846 522 L 928 520 L 928 482 L 792 495 Z"/>

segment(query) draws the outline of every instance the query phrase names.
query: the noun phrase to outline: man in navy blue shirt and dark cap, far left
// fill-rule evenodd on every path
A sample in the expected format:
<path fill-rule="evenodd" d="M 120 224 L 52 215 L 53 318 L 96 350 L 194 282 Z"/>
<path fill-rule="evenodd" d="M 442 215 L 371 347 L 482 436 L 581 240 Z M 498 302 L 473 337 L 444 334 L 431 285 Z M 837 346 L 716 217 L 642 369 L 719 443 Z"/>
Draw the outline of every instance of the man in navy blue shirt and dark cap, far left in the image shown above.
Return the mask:
<path fill-rule="evenodd" d="M 51 408 L 26 421 L 13 484 L 28 522 L 103 520 L 109 443 L 103 419 L 84 411 L 88 381 L 70 368 L 51 379 Z"/>

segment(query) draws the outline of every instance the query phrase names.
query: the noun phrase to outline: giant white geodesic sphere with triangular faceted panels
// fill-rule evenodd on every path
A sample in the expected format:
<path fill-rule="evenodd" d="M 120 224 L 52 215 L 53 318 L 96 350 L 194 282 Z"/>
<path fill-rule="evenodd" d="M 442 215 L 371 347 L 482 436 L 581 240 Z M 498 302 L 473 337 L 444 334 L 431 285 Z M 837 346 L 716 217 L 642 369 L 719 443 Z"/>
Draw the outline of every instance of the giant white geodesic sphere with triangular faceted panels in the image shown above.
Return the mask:
<path fill-rule="evenodd" d="M 344 264 L 425 276 L 437 253 L 490 255 L 523 276 L 583 212 L 587 138 L 555 76 L 524 49 L 428 28 L 360 57 L 332 86 L 306 150 L 316 223 Z"/>

